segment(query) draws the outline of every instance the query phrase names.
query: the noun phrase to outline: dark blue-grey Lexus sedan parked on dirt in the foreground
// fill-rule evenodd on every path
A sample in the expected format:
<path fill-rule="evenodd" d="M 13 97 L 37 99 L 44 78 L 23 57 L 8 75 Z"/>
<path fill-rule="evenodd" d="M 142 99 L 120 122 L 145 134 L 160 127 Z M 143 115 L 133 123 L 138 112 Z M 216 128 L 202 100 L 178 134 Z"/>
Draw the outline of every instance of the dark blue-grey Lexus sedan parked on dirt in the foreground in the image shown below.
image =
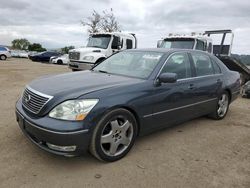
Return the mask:
<path fill-rule="evenodd" d="M 48 152 L 124 157 L 138 135 L 200 117 L 223 119 L 240 75 L 202 51 L 126 50 L 83 72 L 29 83 L 16 103 L 23 133 Z"/>

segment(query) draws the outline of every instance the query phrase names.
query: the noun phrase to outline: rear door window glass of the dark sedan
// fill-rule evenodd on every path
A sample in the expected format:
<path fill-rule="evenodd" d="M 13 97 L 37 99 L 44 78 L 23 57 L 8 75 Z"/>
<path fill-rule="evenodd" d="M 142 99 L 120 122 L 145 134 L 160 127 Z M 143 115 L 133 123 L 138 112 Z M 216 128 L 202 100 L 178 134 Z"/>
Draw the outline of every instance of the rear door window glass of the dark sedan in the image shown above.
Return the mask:
<path fill-rule="evenodd" d="M 198 53 L 191 53 L 191 56 L 195 66 L 196 76 L 206 76 L 214 74 L 214 69 L 209 56 Z"/>

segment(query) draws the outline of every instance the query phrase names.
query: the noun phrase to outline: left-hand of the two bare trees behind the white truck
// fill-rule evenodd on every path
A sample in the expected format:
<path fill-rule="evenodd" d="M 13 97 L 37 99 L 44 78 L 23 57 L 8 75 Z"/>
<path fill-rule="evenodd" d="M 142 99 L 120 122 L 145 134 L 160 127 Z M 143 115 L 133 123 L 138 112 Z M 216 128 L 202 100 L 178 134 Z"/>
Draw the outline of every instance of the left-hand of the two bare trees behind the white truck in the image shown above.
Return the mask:
<path fill-rule="evenodd" d="M 101 21 L 101 15 L 93 10 L 92 15 L 88 17 L 86 20 L 81 21 L 81 24 L 83 26 L 88 26 L 88 32 L 89 33 L 97 33 L 100 32 L 100 21 Z"/>

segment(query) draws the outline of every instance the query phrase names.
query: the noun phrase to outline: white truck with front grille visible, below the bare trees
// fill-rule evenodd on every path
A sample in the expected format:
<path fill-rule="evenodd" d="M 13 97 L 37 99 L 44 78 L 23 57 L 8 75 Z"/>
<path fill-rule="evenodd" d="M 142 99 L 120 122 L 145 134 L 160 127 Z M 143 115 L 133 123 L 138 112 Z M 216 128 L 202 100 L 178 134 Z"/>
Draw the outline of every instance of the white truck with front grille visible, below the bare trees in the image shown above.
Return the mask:
<path fill-rule="evenodd" d="M 69 51 L 69 68 L 72 71 L 90 69 L 120 50 L 136 47 L 135 34 L 94 33 L 89 36 L 86 47 Z"/>

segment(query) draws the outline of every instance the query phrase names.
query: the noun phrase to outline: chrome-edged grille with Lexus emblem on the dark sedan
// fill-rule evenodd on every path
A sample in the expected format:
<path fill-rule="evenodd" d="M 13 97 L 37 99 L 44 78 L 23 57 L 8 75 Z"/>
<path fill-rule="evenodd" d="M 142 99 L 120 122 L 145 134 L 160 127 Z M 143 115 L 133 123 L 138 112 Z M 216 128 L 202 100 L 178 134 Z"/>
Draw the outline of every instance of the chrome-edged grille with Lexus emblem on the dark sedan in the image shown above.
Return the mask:
<path fill-rule="evenodd" d="M 26 87 L 23 92 L 22 104 L 28 111 L 38 114 L 44 105 L 52 98 L 52 96 L 40 93 L 30 87 Z"/>

